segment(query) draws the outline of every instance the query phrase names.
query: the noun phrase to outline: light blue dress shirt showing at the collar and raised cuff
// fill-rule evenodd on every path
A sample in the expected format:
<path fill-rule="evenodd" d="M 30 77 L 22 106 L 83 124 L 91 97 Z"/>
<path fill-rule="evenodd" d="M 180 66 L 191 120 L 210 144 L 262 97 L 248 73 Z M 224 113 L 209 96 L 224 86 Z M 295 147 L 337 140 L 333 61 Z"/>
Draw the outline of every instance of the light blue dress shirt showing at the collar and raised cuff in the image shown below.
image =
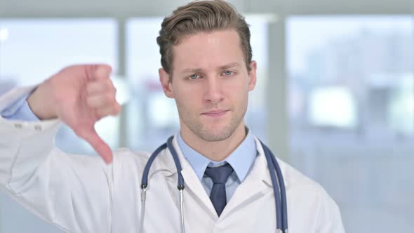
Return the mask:
<path fill-rule="evenodd" d="M 39 118 L 34 115 L 32 109 L 30 109 L 26 101 L 27 96 L 28 95 L 23 96 L 6 107 L 6 109 L 0 112 L 1 116 L 6 119 L 15 119 L 20 121 L 39 121 Z M 247 130 L 246 138 L 244 138 L 243 142 L 241 142 L 241 145 L 239 145 L 239 147 L 237 147 L 224 161 L 212 161 L 211 159 L 204 157 L 199 152 L 196 152 L 192 149 L 192 147 L 189 147 L 189 145 L 185 143 L 180 133 L 178 133 L 177 139 L 182 154 L 184 154 L 185 158 L 189 161 L 189 164 L 196 172 L 196 175 L 199 177 L 204 189 L 206 189 L 208 197 L 210 197 L 210 192 L 213 188 L 213 180 L 204 175 L 206 168 L 222 166 L 227 163 L 232 166 L 234 171 L 226 182 L 227 203 L 233 196 L 236 188 L 239 187 L 248 173 L 250 173 L 255 157 L 258 155 L 255 140 L 249 130 Z"/>

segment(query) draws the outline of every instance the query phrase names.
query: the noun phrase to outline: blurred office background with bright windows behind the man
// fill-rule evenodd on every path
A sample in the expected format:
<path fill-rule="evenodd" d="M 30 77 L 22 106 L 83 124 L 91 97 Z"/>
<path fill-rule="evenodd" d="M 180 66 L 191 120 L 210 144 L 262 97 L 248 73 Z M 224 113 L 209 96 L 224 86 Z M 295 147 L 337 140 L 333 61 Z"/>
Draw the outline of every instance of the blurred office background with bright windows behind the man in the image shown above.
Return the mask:
<path fill-rule="evenodd" d="M 186 2 L 0 0 L 0 93 L 67 65 L 109 63 L 123 112 L 98 131 L 114 148 L 152 151 L 179 129 L 155 39 Z M 258 61 L 248 126 L 321 183 L 347 232 L 413 232 L 414 1 L 230 2 Z M 65 127 L 56 144 L 93 156 Z M 0 213 L 0 232 L 60 232 L 3 193 Z"/>

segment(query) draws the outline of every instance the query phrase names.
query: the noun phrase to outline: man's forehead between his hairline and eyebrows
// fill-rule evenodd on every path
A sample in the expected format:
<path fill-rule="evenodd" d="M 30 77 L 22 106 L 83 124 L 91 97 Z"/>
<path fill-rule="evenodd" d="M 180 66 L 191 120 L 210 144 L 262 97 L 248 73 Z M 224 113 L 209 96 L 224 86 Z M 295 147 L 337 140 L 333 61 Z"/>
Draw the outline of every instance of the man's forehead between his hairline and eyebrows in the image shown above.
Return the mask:
<path fill-rule="evenodd" d="M 243 64 L 239 34 L 234 29 L 200 32 L 181 39 L 173 47 L 174 72 L 187 68 L 215 69 L 225 64 Z"/>

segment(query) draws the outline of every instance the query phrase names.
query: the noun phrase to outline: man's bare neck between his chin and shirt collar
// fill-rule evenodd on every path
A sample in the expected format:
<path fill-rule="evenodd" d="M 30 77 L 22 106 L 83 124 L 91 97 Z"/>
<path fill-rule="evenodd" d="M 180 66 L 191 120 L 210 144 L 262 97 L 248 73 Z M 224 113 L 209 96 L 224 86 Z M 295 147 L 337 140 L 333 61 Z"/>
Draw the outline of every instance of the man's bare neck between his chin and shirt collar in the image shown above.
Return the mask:
<path fill-rule="evenodd" d="M 242 121 L 229 138 L 221 141 L 208 142 L 199 138 L 192 133 L 189 128 L 184 126 L 181 127 L 181 137 L 189 147 L 192 147 L 192 149 L 203 154 L 203 156 L 208 159 L 213 161 L 223 161 L 232 154 L 234 149 L 239 147 L 244 138 L 246 138 L 246 130 Z"/>

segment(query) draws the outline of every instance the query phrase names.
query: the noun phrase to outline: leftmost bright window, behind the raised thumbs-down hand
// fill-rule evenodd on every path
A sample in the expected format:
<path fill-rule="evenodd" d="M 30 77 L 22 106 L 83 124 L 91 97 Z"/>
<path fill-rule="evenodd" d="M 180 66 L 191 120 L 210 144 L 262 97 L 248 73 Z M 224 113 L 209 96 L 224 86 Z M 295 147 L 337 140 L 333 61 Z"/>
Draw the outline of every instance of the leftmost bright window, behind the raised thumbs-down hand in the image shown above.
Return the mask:
<path fill-rule="evenodd" d="M 0 19 L 0 93 L 13 86 L 39 84 L 62 67 L 105 62 L 117 70 L 116 21 L 111 19 Z M 118 80 L 117 80 L 118 81 Z M 117 118 L 103 119 L 97 131 L 117 146 Z M 65 152 L 93 154 L 93 149 L 63 126 L 56 145 Z M 61 232 L 1 197 L 1 232 Z M 25 222 L 25 224 L 22 224 Z"/>

